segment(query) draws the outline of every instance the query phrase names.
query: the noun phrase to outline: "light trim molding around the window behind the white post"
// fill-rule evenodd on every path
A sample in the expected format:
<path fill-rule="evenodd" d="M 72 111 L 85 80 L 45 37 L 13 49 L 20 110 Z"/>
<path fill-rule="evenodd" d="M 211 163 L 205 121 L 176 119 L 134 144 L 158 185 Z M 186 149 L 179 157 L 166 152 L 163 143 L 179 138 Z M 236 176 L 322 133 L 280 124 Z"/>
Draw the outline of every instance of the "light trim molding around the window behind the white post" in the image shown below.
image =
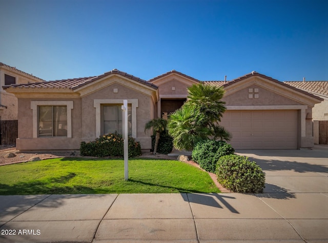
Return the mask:
<path fill-rule="evenodd" d="M 94 99 L 93 107 L 96 108 L 96 137 L 100 136 L 100 123 L 101 123 L 101 105 L 105 104 L 123 104 L 123 99 Z M 137 137 L 137 107 L 138 99 L 128 99 L 128 104 L 131 104 L 132 115 L 132 137 Z"/>

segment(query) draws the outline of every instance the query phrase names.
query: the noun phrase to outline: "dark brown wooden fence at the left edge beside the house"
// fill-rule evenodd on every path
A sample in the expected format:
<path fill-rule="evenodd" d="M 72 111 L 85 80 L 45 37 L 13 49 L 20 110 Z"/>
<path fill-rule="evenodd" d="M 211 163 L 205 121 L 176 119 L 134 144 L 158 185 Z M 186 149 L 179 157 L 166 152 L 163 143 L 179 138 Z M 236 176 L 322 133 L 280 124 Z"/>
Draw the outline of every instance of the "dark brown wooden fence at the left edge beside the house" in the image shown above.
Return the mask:
<path fill-rule="evenodd" d="M 0 145 L 16 144 L 18 120 L 0 120 Z"/>

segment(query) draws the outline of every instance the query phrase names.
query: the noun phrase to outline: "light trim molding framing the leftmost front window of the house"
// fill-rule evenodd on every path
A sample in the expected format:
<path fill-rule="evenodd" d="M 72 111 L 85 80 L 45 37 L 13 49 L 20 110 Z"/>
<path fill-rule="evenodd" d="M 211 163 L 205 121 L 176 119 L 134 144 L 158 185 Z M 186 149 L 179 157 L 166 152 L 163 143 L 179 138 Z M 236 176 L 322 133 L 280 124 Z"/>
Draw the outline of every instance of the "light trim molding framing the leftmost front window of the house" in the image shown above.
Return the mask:
<path fill-rule="evenodd" d="M 33 138 L 37 137 L 37 107 L 38 106 L 66 106 L 67 107 L 67 137 L 72 137 L 72 109 L 73 101 L 31 101 L 33 112 Z"/>

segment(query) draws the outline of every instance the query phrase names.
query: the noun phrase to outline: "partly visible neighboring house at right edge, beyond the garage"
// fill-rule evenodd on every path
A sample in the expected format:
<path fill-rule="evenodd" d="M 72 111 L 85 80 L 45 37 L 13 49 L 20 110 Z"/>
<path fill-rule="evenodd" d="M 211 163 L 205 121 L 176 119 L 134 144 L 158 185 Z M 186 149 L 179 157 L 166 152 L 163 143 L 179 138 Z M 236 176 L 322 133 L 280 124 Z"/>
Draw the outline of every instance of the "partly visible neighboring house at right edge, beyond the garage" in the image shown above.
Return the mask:
<path fill-rule="evenodd" d="M 313 120 L 313 136 L 314 143 L 319 144 L 319 123 L 320 121 L 328 120 L 328 82 L 327 81 L 285 81 L 284 84 L 296 87 L 300 90 L 304 90 L 316 96 L 319 96 L 323 101 L 319 104 L 315 104 L 312 109 L 312 120 Z M 324 123 L 322 123 L 324 124 Z M 328 124 L 326 122 L 325 124 Z M 327 126 L 327 125 L 326 125 Z M 328 134 L 327 128 L 325 129 L 325 144 L 327 144 Z M 321 134 L 323 136 L 324 134 Z"/>

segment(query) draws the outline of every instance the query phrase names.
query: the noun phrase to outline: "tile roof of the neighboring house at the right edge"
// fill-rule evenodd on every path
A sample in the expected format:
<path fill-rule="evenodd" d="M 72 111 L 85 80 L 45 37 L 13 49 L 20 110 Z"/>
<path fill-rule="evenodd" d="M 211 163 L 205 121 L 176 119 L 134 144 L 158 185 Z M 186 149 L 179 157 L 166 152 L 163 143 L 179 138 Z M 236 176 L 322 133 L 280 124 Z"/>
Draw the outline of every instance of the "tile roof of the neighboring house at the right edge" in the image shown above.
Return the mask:
<path fill-rule="evenodd" d="M 284 81 L 284 84 L 328 97 L 328 81 Z"/>

